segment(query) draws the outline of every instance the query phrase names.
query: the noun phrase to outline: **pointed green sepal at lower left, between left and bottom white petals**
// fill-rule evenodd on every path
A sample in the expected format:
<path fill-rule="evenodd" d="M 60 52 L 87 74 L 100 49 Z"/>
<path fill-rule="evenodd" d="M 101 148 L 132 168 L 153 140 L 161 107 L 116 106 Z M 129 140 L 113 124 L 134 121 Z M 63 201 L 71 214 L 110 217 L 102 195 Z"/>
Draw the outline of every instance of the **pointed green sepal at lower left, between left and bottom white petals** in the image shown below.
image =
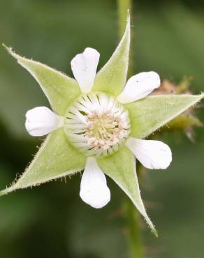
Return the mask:
<path fill-rule="evenodd" d="M 85 161 L 85 156 L 68 144 L 60 128 L 48 135 L 24 174 L 0 195 L 79 172 L 85 167 Z"/>

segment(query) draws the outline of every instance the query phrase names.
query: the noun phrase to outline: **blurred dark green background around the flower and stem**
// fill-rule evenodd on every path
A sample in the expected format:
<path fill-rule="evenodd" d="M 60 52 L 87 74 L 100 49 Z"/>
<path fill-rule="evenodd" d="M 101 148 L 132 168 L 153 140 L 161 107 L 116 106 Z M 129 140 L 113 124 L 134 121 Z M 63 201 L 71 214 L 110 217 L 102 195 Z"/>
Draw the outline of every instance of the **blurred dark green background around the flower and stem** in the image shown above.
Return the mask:
<path fill-rule="evenodd" d="M 70 61 L 85 47 L 101 53 L 99 68 L 118 43 L 113 0 L 0 0 L 0 42 L 71 74 Z M 132 13 L 134 72 L 155 70 L 180 82 L 194 77 L 204 91 L 204 2 L 135 1 Z M 0 186 L 31 161 L 42 139 L 24 129 L 28 109 L 48 101 L 35 80 L 0 49 Z M 204 112 L 198 110 L 204 121 Z M 203 117 L 203 118 L 202 118 Z M 204 257 L 204 133 L 196 144 L 182 134 L 161 137 L 173 149 L 165 172 L 146 172 L 142 195 L 159 230 L 156 239 L 142 222 L 145 257 Z M 126 198 L 108 180 L 112 200 L 94 210 L 79 198 L 80 174 L 19 190 L 0 199 L 1 258 L 125 258 Z"/>

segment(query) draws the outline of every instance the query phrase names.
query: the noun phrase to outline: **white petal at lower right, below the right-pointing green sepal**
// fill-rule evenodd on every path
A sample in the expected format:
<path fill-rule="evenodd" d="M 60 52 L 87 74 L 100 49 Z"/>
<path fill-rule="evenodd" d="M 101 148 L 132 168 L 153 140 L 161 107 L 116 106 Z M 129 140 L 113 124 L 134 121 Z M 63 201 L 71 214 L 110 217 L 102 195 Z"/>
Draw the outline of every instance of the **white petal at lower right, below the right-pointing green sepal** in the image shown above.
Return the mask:
<path fill-rule="evenodd" d="M 163 142 L 129 137 L 126 146 L 148 169 L 166 169 L 172 160 L 170 148 Z"/>

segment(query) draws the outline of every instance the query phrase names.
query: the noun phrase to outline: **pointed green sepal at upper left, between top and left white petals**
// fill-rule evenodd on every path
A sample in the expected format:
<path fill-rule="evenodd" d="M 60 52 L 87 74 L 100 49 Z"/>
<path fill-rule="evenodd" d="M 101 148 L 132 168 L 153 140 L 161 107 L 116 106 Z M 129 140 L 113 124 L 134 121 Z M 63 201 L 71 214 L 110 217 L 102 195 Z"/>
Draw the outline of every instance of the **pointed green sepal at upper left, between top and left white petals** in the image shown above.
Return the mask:
<path fill-rule="evenodd" d="M 6 45 L 3 45 L 3 47 L 6 48 L 9 54 L 17 59 L 17 63 L 28 70 L 36 79 L 45 93 L 45 96 L 47 96 L 50 101 L 54 112 L 64 115 L 68 105 L 81 93 L 75 79 L 45 66 L 43 63 L 19 56 L 15 54 L 11 48 L 6 47 Z"/>

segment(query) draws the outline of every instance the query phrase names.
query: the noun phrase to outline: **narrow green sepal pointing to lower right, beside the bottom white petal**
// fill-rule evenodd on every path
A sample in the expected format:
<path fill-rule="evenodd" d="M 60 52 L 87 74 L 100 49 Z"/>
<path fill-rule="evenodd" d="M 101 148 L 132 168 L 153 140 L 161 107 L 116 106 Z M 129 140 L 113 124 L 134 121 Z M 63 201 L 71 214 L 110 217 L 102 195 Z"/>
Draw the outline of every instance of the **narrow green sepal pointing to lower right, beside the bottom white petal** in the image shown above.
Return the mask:
<path fill-rule="evenodd" d="M 122 146 L 115 154 L 97 160 L 102 171 L 110 176 L 129 196 L 138 211 L 144 216 L 152 232 L 157 236 L 156 229 L 148 217 L 143 200 L 140 196 L 138 176 L 136 173 L 136 158 L 133 153 Z"/>

